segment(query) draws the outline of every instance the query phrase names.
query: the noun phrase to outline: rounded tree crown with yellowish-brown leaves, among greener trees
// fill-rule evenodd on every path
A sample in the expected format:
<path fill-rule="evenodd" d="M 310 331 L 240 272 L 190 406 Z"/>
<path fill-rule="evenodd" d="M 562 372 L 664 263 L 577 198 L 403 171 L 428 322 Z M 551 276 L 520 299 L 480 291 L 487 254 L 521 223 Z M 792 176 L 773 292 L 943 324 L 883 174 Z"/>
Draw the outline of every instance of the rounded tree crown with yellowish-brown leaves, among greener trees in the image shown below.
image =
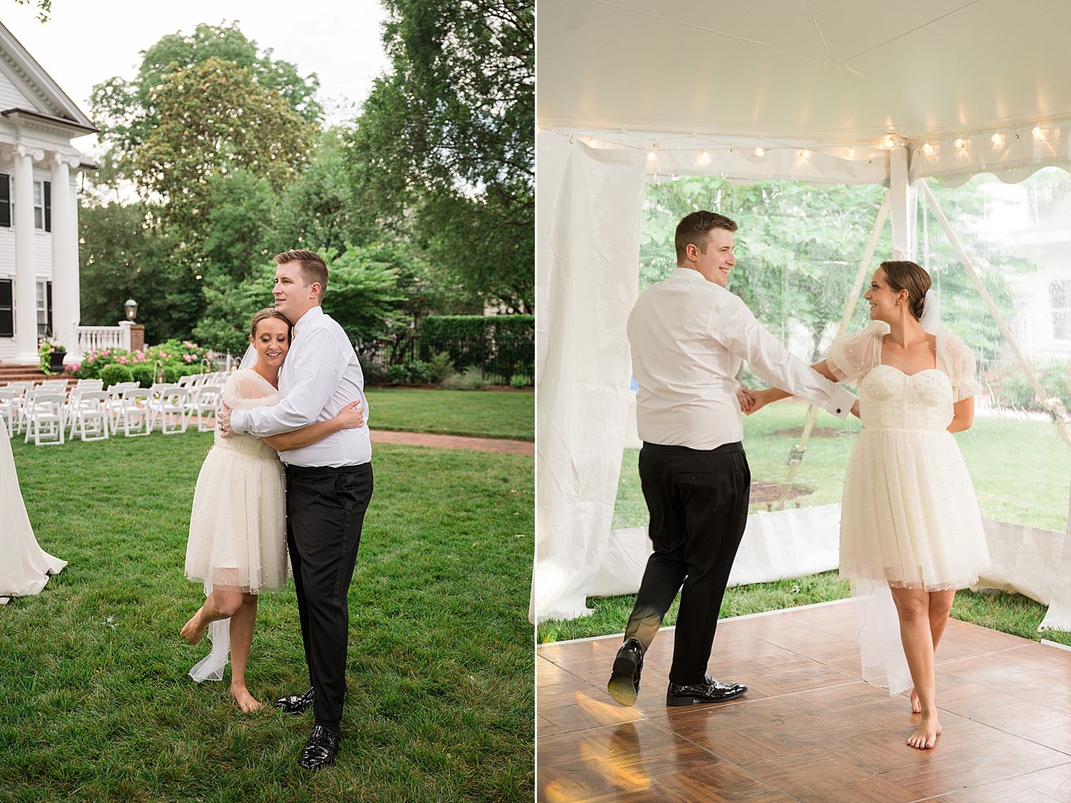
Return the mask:
<path fill-rule="evenodd" d="M 315 129 L 250 71 L 213 56 L 155 87 L 159 124 L 133 152 L 141 191 L 185 243 L 200 239 L 216 177 L 244 169 L 281 190 L 307 161 Z"/>

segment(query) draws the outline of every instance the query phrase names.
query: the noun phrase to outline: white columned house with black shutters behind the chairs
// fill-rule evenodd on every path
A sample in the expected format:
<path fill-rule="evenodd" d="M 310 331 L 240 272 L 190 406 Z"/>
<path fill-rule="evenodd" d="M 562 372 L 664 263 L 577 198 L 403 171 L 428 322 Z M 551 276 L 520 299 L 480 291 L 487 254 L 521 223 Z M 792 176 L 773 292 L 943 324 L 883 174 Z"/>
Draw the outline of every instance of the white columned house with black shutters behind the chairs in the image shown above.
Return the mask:
<path fill-rule="evenodd" d="M 51 334 L 74 355 L 80 317 L 71 139 L 92 121 L 0 25 L 0 361 L 34 363 Z"/>

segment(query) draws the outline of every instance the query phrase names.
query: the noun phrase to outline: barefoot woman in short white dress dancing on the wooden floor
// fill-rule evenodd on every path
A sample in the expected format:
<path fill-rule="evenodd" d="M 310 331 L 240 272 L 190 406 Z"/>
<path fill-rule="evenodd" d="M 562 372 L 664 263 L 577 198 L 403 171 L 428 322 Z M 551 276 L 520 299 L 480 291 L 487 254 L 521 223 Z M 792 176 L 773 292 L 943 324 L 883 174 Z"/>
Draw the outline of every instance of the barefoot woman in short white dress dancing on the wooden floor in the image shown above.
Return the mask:
<path fill-rule="evenodd" d="M 907 744 L 920 749 L 933 747 L 941 732 L 934 651 L 955 591 L 977 582 L 989 564 L 975 489 L 951 435 L 970 427 L 981 386 L 966 343 L 936 322 L 927 325 L 936 317 L 930 285 L 930 274 L 912 262 L 881 263 L 864 296 L 873 323 L 834 340 L 814 367 L 859 385 L 863 428 L 844 479 L 841 575 L 851 579 L 857 599 L 886 586 L 892 593 L 915 683 L 911 711 L 921 714 Z M 746 392 L 755 399 L 749 413 L 788 396 L 776 388 Z M 880 658 L 869 663 L 866 639 L 860 643 L 865 671 Z M 884 663 L 890 693 L 904 690 L 908 684 L 896 688 L 894 680 L 903 656 L 887 650 Z"/>

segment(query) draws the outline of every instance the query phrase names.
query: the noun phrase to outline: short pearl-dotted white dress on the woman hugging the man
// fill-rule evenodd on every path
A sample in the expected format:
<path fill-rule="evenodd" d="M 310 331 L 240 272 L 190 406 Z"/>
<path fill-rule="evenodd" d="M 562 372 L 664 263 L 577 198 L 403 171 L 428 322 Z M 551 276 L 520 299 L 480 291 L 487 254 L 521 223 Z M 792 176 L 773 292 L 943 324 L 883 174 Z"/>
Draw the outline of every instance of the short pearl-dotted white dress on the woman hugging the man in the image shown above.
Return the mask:
<path fill-rule="evenodd" d="M 231 410 L 278 404 L 256 371 L 236 371 L 223 400 Z M 223 437 L 205 458 L 190 515 L 186 577 L 252 594 L 286 584 L 286 482 L 278 453 L 255 435 Z"/>

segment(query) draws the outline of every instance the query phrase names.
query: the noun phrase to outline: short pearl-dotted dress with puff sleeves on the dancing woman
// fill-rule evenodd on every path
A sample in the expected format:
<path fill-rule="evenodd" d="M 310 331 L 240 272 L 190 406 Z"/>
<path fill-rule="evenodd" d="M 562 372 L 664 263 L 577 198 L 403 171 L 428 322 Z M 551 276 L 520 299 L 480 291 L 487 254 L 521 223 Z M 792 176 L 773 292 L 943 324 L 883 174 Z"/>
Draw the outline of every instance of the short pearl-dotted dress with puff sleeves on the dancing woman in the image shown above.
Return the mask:
<path fill-rule="evenodd" d="M 841 575 L 893 588 L 945 591 L 978 580 L 990 562 L 978 500 L 955 438 L 953 403 L 977 396 L 975 358 L 937 331 L 937 368 L 907 375 L 881 365 L 888 324 L 830 345 L 827 365 L 859 384 L 862 431 L 841 505 Z"/>

